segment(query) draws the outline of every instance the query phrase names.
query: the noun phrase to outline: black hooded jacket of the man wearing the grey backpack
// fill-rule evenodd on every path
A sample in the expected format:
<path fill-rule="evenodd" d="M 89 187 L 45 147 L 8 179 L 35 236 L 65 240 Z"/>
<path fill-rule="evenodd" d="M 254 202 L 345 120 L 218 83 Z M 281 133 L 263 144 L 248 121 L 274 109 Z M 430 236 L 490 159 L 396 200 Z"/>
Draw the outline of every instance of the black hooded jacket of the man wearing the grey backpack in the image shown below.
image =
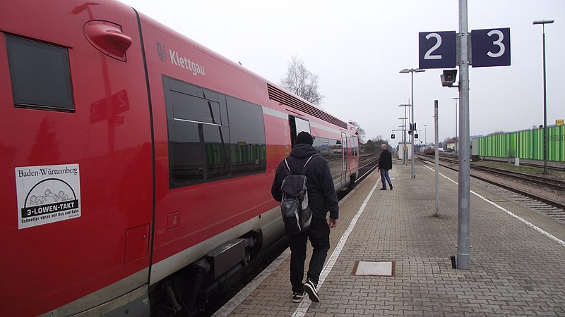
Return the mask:
<path fill-rule="evenodd" d="M 309 144 L 297 144 L 290 155 L 287 157 L 290 170 L 300 173 L 306 161 L 312 154 L 318 153 L 314 147 Z M 280 191 L 280 185 L 283 184 L 285 173 L 285 161 L 280 162 L 275 173 L 273 186 L 270 193 L 276 201 L 283 199 L 283 192 Z M 308 189 L 308 204 L 314 218 L 326 218 L 326 214 L 330 211 L 330 218 L 338 219 L 340 207 L 338 205 L 338 197 L 333 187 L 333 179 L 331 177 L 330 165 L 326 159 L 318 156 L 310 162 L 310 166 L 306 172 Z"/>

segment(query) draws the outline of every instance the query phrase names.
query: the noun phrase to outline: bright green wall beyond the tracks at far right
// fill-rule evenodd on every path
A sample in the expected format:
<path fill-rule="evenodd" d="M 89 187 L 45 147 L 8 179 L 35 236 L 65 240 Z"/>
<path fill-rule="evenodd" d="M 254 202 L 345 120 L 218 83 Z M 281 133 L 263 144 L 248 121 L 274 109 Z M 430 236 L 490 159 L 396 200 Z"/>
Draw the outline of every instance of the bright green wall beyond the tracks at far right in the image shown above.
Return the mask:
<path fill-rule="evenodd" d="M 543 160 L 543 128 L 479 137 L 473 154 Z M 565 125 L 547 127 L 547 161 L 565 162 Z"/>

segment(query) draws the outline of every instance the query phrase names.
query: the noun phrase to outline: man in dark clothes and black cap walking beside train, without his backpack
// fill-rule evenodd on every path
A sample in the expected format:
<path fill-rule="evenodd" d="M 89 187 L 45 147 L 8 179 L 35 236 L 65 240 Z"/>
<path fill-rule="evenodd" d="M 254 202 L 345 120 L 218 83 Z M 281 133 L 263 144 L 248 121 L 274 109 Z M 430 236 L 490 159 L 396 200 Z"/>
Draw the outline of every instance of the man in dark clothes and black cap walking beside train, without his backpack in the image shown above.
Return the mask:
<path fill-rule="evenodd" d="M 312 147 L 313 143 L 314 139 L 308 132 L 303 131 L 297 135 L 296 145 L 292 148 L 290 156 L 287 157 L 290 170 L 300 173 L 309 157 L 318 153 Z M 280 186 L 283 184 L 285 176 L 284 161 L 282 161 L 276 170 L 273 186 L 270 189 L 276 201 L 281 201 L 283 198 Z M 330 249 L 330 228 L 338 225 L 339 218 L 338 197 L 333 187 L 328 161 L 322 156 L 314 157 L 306 172 L 306 177 L 308 201 L 312 211 L 310 228 L 296 235 L 287 235 L 291 252 L 290 283 L 292 285 L 292 302 L 302 301 L 306 293 L 308 293 L 308 297 L 312 302 L 319 302 L 320 298 L 317 287 L 323 262 L 326 261 L 328 249 Z M 328 211 L 330 212 L 330 218 L 326 220 Z M 314 250 L 310 259 L 307 281 L 302 284 L 307 240 L 310 240 Z"/>

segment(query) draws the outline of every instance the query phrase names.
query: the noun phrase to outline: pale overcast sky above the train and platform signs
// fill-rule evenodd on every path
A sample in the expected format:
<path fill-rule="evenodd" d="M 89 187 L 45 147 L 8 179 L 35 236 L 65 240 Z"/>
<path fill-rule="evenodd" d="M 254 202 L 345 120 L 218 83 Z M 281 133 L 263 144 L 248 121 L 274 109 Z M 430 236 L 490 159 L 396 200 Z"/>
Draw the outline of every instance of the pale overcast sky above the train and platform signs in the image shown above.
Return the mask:
<path fill-rule="evenodd" d="M 398 72 L 418 67 L 418 32 L 459 32 L 456 0 L 121 1 L 277 84 L 297 56 L 319 75 L 321 107 L 357 121 L 365 140 L 400 129 L 410 74 Z M 534 20 L 555 20 L 545 27 L 547 123 L 565 118 L 565 0 L 470 0 L 468 30 L 511 32 L 511 66 L 470 68 L 470 135 L 543 123 L 542 26 Z M 458 90 L 441 87 L 440 74 L 414 74 L 422 141 L 434 140 L 434 100 L 439 141 L 456 134 Z"/>

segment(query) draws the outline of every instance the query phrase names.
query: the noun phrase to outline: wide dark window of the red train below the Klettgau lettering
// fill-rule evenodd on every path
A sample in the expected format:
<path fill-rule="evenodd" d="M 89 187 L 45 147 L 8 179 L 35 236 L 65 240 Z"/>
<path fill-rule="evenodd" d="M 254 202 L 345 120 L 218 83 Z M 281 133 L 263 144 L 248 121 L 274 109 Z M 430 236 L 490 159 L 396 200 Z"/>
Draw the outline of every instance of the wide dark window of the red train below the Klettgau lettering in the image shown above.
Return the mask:
<path fill-rule="evenodd" d="M 166 76 L 163 83 L 170 188 L 266 170 L 260 106 Z"/>

